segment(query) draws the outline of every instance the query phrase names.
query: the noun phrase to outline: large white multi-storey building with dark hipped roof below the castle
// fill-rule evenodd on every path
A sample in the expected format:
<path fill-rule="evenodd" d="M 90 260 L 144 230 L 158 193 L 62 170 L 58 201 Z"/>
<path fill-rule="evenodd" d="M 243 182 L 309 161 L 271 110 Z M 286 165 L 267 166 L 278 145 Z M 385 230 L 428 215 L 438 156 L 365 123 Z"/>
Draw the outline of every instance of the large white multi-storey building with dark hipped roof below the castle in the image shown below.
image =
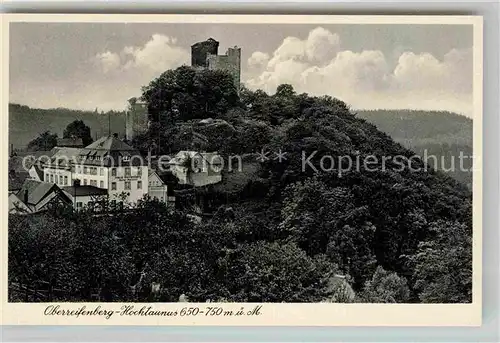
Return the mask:
<path fill-rule="evenodd" d="M 61 187 L 79 180 L 81 186 L 104 189 L 110 201 L 136 203 L 148 193 L 147 161 L 116 136 L 101 137 L 83 149 L 59 148 L 43 173 L 45 182 Z"/>

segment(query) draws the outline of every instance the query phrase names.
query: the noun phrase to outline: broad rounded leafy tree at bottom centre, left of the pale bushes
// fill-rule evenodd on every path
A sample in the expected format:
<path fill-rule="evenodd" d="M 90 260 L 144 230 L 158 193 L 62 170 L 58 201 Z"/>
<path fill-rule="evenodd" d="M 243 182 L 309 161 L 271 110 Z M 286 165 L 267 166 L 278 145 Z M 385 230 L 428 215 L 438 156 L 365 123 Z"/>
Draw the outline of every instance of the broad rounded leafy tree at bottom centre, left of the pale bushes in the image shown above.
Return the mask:
<path fill-rule="evenodd" d="M 320 302 L 333 294 L 335 266 L 294 243 L 255 242 L 227 250 L 219 261 L 230 300 Z"/>

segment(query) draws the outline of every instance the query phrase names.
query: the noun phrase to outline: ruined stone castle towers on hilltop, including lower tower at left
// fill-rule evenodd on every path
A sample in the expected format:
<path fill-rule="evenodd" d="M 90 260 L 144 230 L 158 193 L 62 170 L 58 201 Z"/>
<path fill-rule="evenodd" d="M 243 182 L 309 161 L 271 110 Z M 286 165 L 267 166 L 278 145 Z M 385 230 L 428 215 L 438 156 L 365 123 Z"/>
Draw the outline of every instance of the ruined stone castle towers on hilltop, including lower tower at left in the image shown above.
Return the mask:
<path fill-rule="evenodd" d="M 196 69 L 226 70 L 234 81 L 236 90 L 240 90 L 241 48 L 234 46 L 227 49 L 225 55 L 218 55 L 219 42 L 213 38 L 191 46 L 191 66 Z M 147 132 L 149 115 L 147 104 L 137 98 L 129 100 L 125 119 L 126 139 L 131 141 L 137 135 Z"/>

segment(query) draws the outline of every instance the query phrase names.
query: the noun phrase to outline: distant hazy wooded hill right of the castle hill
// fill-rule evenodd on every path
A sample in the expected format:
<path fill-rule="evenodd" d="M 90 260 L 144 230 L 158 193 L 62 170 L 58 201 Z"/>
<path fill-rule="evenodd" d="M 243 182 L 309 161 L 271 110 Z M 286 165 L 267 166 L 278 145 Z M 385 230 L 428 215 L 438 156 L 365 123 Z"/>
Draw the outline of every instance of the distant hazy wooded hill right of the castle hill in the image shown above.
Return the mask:
<path fill-rule="evenodd" d="M 373 110 L 357 111 L 357 117 L 376 125 L 396 142 L 415 151 L 418 155 L 436 156 L 438 169 L 447 171 L 469 188 L 472 186 L 472 172 L 459 169 L 460 152 L 472 155 L 472 119 L 465 116 L 438 111 Z M 431 165 L 434 163 L 429 159 Z M 464 169 L 472 167 L 472 160 L 463 160 Z"/>

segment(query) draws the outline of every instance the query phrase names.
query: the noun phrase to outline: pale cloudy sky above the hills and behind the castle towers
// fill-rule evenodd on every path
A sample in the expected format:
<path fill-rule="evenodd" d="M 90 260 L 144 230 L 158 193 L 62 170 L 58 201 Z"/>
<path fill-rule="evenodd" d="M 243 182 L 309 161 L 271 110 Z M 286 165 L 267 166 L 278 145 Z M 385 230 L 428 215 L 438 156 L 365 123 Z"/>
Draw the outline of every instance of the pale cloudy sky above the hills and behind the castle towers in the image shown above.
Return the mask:
<path fill-rule="evenodd" d="M 329 94 L 356 109 L 472 115 L 472 26 L 12 23 L 10 102 L 100 110 L 163 71 L 190 64 L 209 37 L 242 48 L 242 81 L 273 93 Z"/>

